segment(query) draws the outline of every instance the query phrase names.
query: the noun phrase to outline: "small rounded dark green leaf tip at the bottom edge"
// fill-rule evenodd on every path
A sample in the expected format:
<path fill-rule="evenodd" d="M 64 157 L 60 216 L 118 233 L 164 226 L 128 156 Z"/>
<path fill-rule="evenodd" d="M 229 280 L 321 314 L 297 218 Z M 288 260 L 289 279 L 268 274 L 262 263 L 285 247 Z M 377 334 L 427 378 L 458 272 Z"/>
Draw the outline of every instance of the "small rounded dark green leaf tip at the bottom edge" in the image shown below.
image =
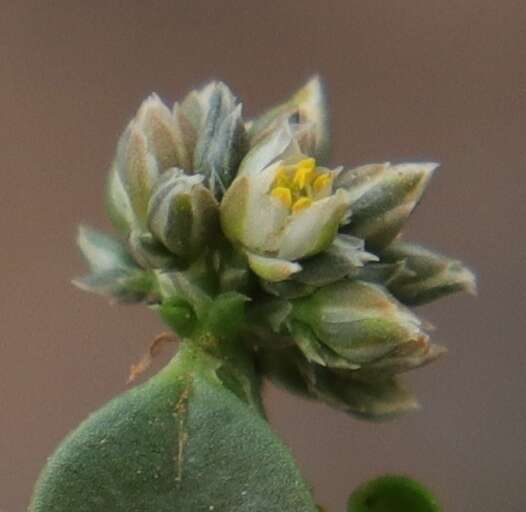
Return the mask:
<path fill-rule="evenodd" d="M 405 476 L 386 475 L 367 482 L 351 495 L 348 512 L 440 512 L 433 494 Z"/>

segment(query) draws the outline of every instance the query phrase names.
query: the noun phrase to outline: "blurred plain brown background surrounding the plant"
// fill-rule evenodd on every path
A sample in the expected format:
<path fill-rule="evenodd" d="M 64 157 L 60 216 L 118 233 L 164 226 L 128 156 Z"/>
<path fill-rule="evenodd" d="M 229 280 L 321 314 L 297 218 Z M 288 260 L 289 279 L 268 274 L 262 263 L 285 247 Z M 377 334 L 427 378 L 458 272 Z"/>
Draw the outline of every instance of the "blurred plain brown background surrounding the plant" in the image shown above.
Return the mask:
<path fill-rule="evenodd" d="M 141 100 L 220 78 L 252 116 L 313 73 L 335 163 L 442 163 L 406 238 L 469 263 L 480 291 L 419 310 L 449 348 L 409 377 L 421 411 L 369 424 L 269 386 L 272 423 L 331 511 L 387 471 L 422 479 L 448 512 L 526 508 L 525 2 L 0 7 L 1 510 L 25 510 L 46 457 L 126 389 L 163 329 L 69 282 L 84 271 L 77 224 L 109 228 L 106 171 Z"/>

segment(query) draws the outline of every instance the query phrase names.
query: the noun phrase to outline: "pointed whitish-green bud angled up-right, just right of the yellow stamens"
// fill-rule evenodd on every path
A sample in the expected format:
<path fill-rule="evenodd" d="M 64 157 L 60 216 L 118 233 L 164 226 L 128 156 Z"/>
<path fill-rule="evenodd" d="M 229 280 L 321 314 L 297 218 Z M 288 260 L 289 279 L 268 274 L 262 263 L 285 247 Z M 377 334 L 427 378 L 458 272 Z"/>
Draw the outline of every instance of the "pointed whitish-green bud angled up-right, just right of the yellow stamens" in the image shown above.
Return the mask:
<path fill-rule="evenodd" d="M 437 164 L 371 164 L 342 172 L 336 187 L 349 192 L 352 219 L 342 232 L 369 249 L 387 246 L 420 201 Z"/>

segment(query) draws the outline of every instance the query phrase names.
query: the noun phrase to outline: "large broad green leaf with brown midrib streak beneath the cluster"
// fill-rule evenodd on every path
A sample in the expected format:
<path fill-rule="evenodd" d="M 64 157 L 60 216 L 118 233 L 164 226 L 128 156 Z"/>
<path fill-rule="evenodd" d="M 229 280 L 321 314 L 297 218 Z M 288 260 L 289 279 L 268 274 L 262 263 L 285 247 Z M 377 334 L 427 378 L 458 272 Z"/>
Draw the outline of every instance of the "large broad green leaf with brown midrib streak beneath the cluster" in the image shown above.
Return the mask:
<path fill-rule="evenodd" d="M 226 366 L 183 344 L 48 461 L 30 512 L 315 512 L 290 453 Z M 221 378 L 220 378 L 221 376 Z M 238 379 L 239 380 L 239 379 Z"/>

